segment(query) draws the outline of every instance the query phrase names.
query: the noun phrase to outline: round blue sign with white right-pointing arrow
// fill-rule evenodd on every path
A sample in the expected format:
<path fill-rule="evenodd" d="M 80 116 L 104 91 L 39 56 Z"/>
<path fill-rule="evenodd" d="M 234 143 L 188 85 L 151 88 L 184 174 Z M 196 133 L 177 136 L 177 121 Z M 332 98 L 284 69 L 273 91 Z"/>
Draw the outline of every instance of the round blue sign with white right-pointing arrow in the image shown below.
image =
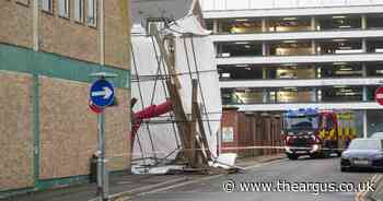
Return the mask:
<path fill-rule="evenodd" d="M 115 90 L 111 82 L 100 79 L 91 86 L 90 98 L 98 107 L 106 107 L 114 100 Z"/>

